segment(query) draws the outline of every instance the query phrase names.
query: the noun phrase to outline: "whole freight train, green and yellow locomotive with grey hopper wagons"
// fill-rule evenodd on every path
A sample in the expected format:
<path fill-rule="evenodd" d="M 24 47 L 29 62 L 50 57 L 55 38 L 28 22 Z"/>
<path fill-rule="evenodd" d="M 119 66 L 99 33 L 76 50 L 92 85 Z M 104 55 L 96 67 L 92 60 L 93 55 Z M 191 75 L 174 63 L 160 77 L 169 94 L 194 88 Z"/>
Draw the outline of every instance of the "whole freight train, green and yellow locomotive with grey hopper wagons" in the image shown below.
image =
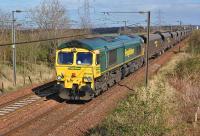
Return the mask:
<path fill-rule="evenodd" d="M 191 30 L 150 34 L 149 58 L 163 54 L 190 35 Z M 147 35 L 119 35 L 71 40 L 56 51 L 59 96 L 90 100 L 145 63 Z"/>

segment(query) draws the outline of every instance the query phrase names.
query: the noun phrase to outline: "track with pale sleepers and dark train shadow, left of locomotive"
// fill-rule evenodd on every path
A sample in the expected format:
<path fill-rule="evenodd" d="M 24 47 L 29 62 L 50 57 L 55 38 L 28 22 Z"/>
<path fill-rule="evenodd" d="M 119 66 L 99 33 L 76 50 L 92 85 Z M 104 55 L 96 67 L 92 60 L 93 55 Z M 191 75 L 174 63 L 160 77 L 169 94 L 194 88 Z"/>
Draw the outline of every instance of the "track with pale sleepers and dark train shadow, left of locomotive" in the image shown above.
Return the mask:
<path fill-rule="evenodd" d="M 46 99 L 45 97 L 55 94 L 55 91 L 49 91 L 49 89 L 54 87 L 55 84 L 56 81 L 46 83 L 39 87 L 33 88 L 32 91 L 35 94 L 27 94 L 25 96 L 17 98 L 16 100 L 9 101 L 0 105 L 0 117 L 6 116 L 21 108 L 24 108 L 27 105 L 33 104 L 38 100 Z"/>

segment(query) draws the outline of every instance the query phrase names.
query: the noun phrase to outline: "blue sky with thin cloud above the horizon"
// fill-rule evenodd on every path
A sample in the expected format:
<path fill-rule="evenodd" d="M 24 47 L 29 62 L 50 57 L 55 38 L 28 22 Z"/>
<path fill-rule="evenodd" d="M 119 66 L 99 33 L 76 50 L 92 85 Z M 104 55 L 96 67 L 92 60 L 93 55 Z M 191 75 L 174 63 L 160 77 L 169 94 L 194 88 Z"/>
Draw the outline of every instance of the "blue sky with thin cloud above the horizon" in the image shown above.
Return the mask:
<path fill-rule="evenodd" d="M 0 9 L 5 12 L 12 10 L 28 10 L 39 5 L 42 0 L 0 0 Z M 66 7 L 71 20 L 79 21 L 78 10 L 83 10 L 83 0 L 60 0 Z M 107 11 L 151 11 L 152 24 L 177 25 L 200 24 L 200 0 L 89 0 L 90 17 L 95 26 L 144 24 L 145 15 L 140 14 L 109 14 Z M 160 12 L 159 12 L 160 11 Z M 159 17 L 160 13 L 160 17 Z"/>

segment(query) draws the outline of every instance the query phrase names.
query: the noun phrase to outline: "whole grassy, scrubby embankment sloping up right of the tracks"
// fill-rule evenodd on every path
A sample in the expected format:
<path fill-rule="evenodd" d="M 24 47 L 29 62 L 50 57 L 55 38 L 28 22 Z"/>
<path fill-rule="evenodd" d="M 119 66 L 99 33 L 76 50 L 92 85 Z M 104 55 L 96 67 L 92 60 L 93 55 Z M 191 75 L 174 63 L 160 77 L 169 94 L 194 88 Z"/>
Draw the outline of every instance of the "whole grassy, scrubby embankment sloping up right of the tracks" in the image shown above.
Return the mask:
<path fill-rule="evenodd" d="M 200 106 L 200 32 L 194 32 L 185 52 L 176 55 L 150 80 L 148 90 L 134 94 L 86 135 L 198 135 L 195 115 Z"/>

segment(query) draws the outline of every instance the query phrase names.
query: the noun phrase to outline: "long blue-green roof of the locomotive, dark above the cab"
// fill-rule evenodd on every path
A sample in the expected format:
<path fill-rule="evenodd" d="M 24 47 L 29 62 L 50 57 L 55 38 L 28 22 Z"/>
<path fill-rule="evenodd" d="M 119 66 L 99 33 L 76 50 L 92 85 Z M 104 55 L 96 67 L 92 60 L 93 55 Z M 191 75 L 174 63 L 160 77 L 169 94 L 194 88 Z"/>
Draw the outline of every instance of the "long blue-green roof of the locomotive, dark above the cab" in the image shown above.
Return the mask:
<path fill-rule="evenodd" d="M 127 43 L 136 44 L 141 42 L 142 39 L 138 35 L 105 36 L 68 41 L 61 44 L 58 49 L 84 48 L 88 50 L 110 50 Z"/>

